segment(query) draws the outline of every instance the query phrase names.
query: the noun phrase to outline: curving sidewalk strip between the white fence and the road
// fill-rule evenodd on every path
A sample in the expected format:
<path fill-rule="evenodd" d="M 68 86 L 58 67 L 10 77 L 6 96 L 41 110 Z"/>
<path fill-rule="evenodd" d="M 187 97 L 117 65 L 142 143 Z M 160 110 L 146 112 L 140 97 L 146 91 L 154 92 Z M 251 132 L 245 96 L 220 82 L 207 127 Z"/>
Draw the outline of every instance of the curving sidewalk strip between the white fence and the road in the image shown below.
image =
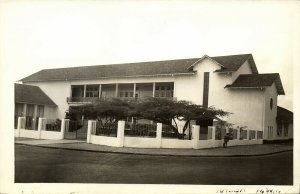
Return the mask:
<path fill-rule="evenodd" d="M 236 156 L 259 156 L 286 151 L 292 151 L 292 145 L 263 144 L 250 146 L 233 146 L 227 148 L 209 149 L 167 149 L 167 148 L 117 148 L 102 145 L 88 144 L 79 140 L 40 140 L 29 138 L 15 138 L 15 144 L 39 146 L 55 149 L 67 149 L 90 152 L 109 152 L 122 154 L 143 154 L 160 156 L 203 156 L 203 157 L 236 157 Z"/>

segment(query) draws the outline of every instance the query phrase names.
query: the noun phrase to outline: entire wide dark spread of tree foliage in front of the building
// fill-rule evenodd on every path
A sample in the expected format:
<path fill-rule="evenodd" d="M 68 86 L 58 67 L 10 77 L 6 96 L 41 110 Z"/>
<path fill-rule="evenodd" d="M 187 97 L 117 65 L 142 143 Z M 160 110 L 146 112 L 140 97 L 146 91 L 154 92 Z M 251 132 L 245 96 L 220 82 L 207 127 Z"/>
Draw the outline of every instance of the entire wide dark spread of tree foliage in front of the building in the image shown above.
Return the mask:
<path fill-rule="evenodd" d="M 191 121 L 229 113 L 214 107 L 205 108 L 188 101 L 174 101 L 165 98 L 143 98 L 136 101 L 111 99 L 83 105 L 83 113 L 92 119 L 104 120 L 105 123 L 115 123 L 126 117 L 148 119 L 169 126 L 178 138 L 184 138 L 187 129 L 191 130 Z M 178 122 L 183 121 L 182 132 L 179 132 Z M 191 133 L 189 133 L 191 134 Z M 191 138 L 191 137 L 189 137 Z"/>

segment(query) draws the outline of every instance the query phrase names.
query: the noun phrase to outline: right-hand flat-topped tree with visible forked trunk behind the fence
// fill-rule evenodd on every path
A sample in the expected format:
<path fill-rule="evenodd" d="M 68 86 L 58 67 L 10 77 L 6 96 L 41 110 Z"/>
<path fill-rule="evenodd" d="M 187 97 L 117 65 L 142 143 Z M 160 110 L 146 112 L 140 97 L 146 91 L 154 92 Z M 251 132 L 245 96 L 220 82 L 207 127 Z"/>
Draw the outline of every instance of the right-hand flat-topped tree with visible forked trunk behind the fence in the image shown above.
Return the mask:
<path fill-rule="evenodd" d="M 214 107 L 205 108 L 188 101 L 173 101 L 164 98 L 146 98 L 136 105 L 137 117 L 153 120 L 168 125 L 178 138 L 183 138 L 187 129 L 191 130 L 191 121 L 203 118 L 213 119 L 229 113 Z M 179 132 L 178 121 L 184 121 L 182 132 Z M 191 133 L 189 133 L 191 134 Z M 191 138 L 191 137 L 189 137 Z"/>

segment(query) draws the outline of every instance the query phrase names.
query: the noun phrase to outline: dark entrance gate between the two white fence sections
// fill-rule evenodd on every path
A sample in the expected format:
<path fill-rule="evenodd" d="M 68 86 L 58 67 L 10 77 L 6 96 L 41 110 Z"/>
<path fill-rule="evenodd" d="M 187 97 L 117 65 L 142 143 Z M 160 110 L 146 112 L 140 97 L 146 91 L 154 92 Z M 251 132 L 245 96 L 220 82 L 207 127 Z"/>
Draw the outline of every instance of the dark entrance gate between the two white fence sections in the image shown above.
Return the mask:
<path fill-rule="evenodd" d="M 87 120 L 69 120 L 65 123 L 64 139 L 86 140 Z"/>

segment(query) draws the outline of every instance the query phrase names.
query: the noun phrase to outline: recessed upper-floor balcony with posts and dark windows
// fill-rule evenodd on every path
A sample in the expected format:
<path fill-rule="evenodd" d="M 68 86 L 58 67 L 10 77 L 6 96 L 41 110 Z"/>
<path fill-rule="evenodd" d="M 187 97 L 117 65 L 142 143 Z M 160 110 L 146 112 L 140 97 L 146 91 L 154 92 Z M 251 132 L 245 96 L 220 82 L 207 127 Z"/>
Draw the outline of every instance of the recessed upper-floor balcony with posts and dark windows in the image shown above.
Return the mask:
<path fill-rule="evenodd" d="M 151 96 L 176 100 L 173 95 L 173 82 L 71 85 L 71 95 L 67 102 L 84 104 L 112 98 L 132 101 Z"/>

